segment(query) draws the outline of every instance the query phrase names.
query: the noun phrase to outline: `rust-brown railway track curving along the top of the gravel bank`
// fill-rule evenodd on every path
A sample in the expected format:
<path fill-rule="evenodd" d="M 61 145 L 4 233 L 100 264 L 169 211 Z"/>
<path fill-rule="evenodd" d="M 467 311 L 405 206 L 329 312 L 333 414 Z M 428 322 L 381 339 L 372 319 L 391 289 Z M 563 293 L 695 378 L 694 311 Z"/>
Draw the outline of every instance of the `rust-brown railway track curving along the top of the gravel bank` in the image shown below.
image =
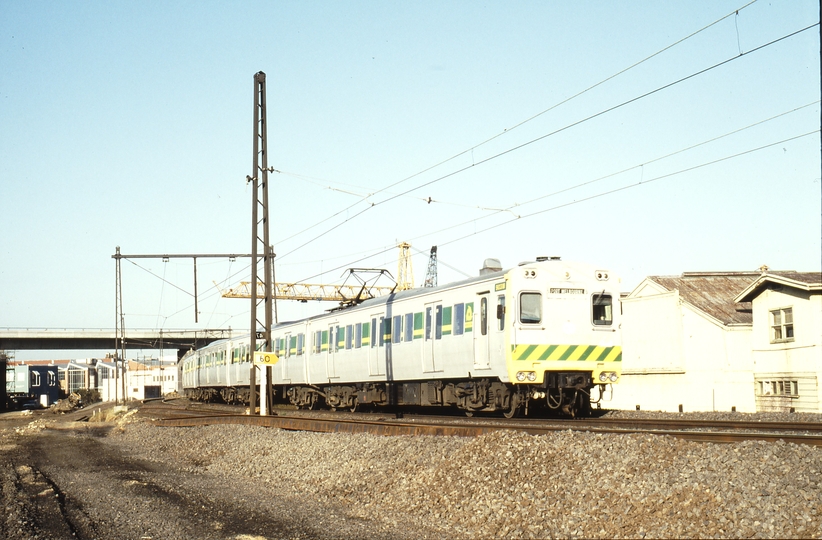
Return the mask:
<path fill-rule="evenodd" d="M 603 434 L 668 435 L 697 442 L 734 443 L 750 440 L 784 441 L 822 446 L 822 424 L 812 422 L 729 422 L 694 419 L 584 420 L 462 418 L 428 415 L 351 414 L 328 411 L 278 410 L 271 416 L 238 414 L 237 407 L 146 403 L 140 414 L 158 426 L 189 427 L 244 424 L 321 433 L 429 435 L 476 437 L 498 430 L 545 435 L 564 430 Z"/>

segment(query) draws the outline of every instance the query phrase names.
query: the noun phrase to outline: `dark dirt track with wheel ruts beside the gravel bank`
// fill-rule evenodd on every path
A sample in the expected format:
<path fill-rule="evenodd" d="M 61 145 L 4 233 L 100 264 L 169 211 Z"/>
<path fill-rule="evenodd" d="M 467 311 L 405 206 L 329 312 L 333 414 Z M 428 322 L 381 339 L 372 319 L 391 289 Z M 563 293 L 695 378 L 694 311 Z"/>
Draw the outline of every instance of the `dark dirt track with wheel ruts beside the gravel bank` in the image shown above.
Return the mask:
<path fill-rule="evenodd" d="M 106 441 L 89 409 L 0 414 L 0 538 L 332 538 L 317 516 L 252 485 L 227 486 Z M 270 509 L 271 511 L 267 511 Z M 355 535 L 390 537 L 379 531 Z"/>

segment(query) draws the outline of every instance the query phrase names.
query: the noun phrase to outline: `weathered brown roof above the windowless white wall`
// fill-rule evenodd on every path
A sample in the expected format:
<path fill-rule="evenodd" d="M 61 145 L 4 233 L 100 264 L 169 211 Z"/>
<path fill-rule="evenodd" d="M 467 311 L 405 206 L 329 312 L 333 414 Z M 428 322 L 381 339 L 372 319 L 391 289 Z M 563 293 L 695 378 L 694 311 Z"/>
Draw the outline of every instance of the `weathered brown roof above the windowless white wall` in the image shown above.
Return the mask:
<path fill-rule="evenodd" d="M 723 324 L 752 324 L 750 302 L 734 302 L 745 287 L 754 282 L 760 272 L 686 272 L 681 276 L 649 276 L 693 307 L 702 310 Z"/>

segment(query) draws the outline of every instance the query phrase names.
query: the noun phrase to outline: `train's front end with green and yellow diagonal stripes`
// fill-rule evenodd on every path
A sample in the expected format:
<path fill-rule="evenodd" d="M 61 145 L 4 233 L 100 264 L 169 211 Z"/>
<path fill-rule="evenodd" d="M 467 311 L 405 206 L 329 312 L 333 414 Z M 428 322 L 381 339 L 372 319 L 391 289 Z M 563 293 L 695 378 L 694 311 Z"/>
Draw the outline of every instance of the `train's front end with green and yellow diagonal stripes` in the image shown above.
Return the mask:
<path fill-rule="evenodd" d="M 539 258 L 507 279 L 506 362 L 516 395 L 526 406 L 589 413 L 621 376 L 618 278 L 590 265 Z"/>

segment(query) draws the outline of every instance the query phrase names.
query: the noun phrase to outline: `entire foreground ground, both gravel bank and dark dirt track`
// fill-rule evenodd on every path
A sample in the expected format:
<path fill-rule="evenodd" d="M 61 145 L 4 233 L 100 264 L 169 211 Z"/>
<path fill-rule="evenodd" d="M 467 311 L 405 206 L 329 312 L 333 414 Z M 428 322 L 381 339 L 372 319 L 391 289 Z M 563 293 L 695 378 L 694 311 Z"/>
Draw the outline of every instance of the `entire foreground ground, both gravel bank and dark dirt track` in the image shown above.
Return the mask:
<path fill-rule="evenodd" d="M 0 420 L 0 536 L 822 537 L 809 446 L 66 420 Z"/>

